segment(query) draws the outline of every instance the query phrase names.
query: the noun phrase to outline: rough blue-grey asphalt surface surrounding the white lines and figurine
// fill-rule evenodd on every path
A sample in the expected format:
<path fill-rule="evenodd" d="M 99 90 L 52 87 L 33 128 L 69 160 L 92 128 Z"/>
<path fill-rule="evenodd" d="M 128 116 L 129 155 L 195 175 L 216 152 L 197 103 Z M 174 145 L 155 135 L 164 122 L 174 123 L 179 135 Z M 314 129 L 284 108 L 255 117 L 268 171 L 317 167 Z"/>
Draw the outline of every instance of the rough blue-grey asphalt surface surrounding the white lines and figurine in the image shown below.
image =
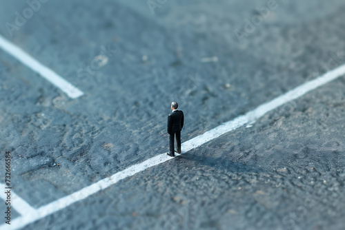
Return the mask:
<path fill-rule="evenodd" d="M 70 99 L 0 50 L 13 191 L 39 208 L 168 151 L 171 101 L 186 141 L 345 63 L 340 0 L 277 0 L 239 43 L 268 2 L 168 0 L 152 14 L 146 1 L 50 0 L 10 36 L 28 5 L 0 1 L 0 34 L 85 92 Z M 344 88 L 341 77 L 24 229 L 344 229 Z"/>

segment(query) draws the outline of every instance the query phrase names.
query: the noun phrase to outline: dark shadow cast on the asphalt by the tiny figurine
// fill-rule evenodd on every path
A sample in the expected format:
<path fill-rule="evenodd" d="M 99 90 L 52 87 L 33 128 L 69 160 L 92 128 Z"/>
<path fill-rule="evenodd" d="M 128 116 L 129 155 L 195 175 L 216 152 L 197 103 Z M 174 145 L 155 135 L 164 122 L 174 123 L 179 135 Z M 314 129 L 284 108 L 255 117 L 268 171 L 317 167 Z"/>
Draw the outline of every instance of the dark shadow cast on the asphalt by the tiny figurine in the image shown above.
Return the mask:
<path fill-rule="evenodd" d="M 195 155 L 193 152 L 188 152 L 186 154 L 181 154 L 176 157 L 177 162 L 179 163 L 188 163 L 188 161 L 193 161 L 195 165 L 204 165 L 207 167 L 213 167 L 213 168 L 219 168 L 219 169 L 228 169 L 229 171 L 233 172 L 242 172 L 242 173 L 248 173 L 248 172 L 256 172 L 256 173 L 262 173 L 264 172 L 264 169 L 262 167 L 257 167 L 255 165 L 245 165 L 243 163 L 237 163 L 232 160 L 226 159 L 226 157 L 219 157 L 215 158 L 212 156 L 200 156 Z"/>

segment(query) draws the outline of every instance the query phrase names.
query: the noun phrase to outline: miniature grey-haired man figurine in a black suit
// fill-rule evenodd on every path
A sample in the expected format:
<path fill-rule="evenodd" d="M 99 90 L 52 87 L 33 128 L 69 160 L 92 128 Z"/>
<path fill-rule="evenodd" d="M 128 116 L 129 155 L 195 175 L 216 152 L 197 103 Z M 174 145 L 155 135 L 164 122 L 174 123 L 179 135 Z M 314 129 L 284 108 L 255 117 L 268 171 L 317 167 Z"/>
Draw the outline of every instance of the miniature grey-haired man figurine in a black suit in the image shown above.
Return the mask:
<path fill-rule="evenodd" d="M 177 153 L 181 154 L 181 130 L 184 127 L 184 112 L 177 110 L 176 102 L 171 103 L 171 114 L 168 116 L 168 134 L 170 134 L 170 152 L 169 156 L 175 156 L 174 137 L 176 136 Z"/>

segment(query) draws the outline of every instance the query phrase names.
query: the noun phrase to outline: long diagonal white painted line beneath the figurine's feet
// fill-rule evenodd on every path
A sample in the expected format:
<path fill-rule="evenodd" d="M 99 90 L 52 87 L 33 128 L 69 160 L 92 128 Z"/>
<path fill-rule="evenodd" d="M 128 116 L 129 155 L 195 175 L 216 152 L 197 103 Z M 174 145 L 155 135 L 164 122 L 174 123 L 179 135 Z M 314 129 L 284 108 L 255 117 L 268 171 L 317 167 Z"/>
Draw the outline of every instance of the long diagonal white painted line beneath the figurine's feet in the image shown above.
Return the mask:
<path fill-rule="evenodd" d="M 282 96 L 273 99 L 273 101 L 260 105 L 253 111 L 250 111 L 242 116 L 238 116 L 233 121 L 223 123 L 215 127 L 214 129 L 210 129 L 208 132 L 205 132 L 200 136 L 186 141 L 182 144 L 181 149 L 183 150 L 183 153 L 186 153 L 187 151 L 195 149 L 196 147 L 199 147 L 200 145 L 210 140 L 213 140 L 214 138 L 217 138 L 223 134 L 226 134 L 227 132 L 237 129 L 242 125 L 255 123 L 255 121 L 257 121 L 258 118 L 264 116 L 264 114 L 266 114 L 267 112 L 270 112 L 273 109 L 279 107 L 280 105 L 288 103 L 289 101 L 293 101 L 294 99 L 299 98 L 300 96 L 308 92 L 311 92 L 311 90 L 315 90 L 317 87 L 320 87 L 330 81 L 333 81 L 334 79 L 337 79 L 339 78 L 339 76 L 342 76 L 344 74 L 345 65 L 337 67 L 335 70 L 327 72 L 323 76 L 319 76 L 317 79 L 314 79 L 313 81 L 308 81 L 307 83 L 299 85 L 294 90 L 290 90 L 286 94 L 283 94 Z M 144 171 L 145 169 L 154 167 L 155 165 L 159 165 L 171 159 L 172 158 L 170 158 L 170 156 L 167 156 L 165 153 L 152 157 L 137 165 L 132 165 L 131 167 L 124 169 L 124 171 L 119 171 L 118 173 L 110 176 L 109 178 L 99 180 L 98 182 L 95 182 L 94 184 L 88 187 L 84 187 L 83 189 L 76 191 L 73 194 L 60 198 L 59 200 L 50 202 L 48 205 L 44 205 L 39 209 L 34 209 L 34 211 L 26 211 L 26 213 L 24 213 L 23 216 L 15 220 L 12 220 L 11 225 L 0 225 L 0 229 L 19 229 L 25 227 L 27 224 L 44 218 L 61 209 L 64 209 L 79 200 L 83 200 L 84 198 L 87 198 L 88 196 L 97 193 L 98 191 L 106 189 L 110 187 L 110 185 L 114 185 L 116 182 L 119 182 L 119 180 L 123 180 L 124 178 L 133 176 L 139 173 L 140 171 Z"/>

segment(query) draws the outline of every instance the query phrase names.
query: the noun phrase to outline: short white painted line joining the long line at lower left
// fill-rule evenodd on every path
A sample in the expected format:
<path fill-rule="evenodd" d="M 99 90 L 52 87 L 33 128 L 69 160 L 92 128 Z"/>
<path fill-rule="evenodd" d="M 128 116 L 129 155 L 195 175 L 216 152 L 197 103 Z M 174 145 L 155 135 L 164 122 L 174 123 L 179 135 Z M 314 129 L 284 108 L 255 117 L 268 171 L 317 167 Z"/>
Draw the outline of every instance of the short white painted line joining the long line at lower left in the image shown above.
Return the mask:
<path fill-rule="evenodd" d="M 28 213 L 35 212 L 36 209 L 31 207 L 25 200 L 20 198 L 17 194 L 14 194 L 13 189 L 5 189 L 6 185 L 0 184 L 1 192 L 0 198 L 3 200 L 7 200 L 7 195 L 5 194 L 6 191 L 10 190 L 10 206 L 11 209 L 15 209 L 21 216 L 28 215 Z M 2 228 L 0 228 L 2 229 Z"/>

